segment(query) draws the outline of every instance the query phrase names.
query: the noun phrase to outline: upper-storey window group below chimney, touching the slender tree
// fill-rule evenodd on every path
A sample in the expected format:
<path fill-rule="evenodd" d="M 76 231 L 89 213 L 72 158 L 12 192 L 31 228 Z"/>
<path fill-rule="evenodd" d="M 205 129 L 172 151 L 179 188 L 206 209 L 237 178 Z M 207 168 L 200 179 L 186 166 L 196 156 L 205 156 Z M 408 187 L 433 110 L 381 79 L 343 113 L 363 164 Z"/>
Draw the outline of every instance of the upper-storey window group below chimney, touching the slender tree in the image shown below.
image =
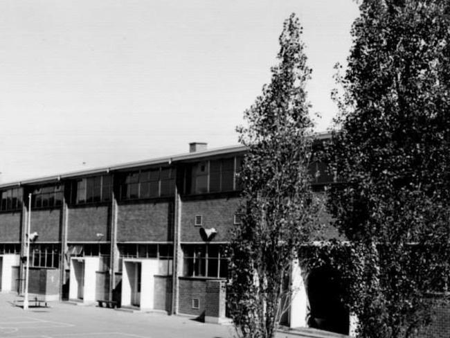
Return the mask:
<path fill-rule="evenodd" d="M 220 193 L 240 190 L 236 173 L 240 171 L 242 157 L 216 159 L 186 167 L 185 191 L 188 194 Z"/>

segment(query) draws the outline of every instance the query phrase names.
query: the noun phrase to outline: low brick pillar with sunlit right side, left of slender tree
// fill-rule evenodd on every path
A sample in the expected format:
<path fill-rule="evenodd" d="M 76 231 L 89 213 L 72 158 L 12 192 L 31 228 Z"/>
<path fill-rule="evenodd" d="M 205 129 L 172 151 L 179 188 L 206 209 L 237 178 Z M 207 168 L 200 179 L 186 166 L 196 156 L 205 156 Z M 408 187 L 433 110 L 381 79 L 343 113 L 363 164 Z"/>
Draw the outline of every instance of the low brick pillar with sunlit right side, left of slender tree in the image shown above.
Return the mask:
<path fill-rule="evenodd" d="M 205 323 L 228 323 L 225 281 L 206 281 Z"/>

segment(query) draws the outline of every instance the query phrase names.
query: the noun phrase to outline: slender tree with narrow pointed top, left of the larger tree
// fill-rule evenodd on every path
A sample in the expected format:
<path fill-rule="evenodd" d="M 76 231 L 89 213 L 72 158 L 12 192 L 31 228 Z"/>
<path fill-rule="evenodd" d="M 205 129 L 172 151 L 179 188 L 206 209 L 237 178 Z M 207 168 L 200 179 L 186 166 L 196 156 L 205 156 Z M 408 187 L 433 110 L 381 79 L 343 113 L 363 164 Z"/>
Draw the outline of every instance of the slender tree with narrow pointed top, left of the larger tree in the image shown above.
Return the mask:
<path fill-rule="evenodd" d="M 228 303 L 242 337 L 275 334 L 295 292 L 286 283 L 291 263 L 314 214 L 307 175 L 312 121 L 305 91 L 311 69 L 301 33 L 293 14 L 280 35 L 279 64 L 271 69 L 271 83 L 244 112 L 248 126 L 237 128 L 248 152 L 240 173 L 242 225 L 231 241 Z"/>

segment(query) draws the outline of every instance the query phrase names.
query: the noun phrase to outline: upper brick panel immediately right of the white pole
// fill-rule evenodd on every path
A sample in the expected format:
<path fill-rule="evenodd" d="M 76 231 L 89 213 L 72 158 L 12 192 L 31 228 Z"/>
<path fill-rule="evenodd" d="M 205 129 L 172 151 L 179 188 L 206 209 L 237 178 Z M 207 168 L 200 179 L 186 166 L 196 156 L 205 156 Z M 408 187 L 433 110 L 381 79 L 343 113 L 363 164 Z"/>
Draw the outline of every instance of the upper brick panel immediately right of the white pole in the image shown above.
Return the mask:
<path fill-rule="evenodd" d="M 62 209 L 32 210 L 31 232 L 37 231 L 37 242 L 57 242 L 60 240 Z"/>

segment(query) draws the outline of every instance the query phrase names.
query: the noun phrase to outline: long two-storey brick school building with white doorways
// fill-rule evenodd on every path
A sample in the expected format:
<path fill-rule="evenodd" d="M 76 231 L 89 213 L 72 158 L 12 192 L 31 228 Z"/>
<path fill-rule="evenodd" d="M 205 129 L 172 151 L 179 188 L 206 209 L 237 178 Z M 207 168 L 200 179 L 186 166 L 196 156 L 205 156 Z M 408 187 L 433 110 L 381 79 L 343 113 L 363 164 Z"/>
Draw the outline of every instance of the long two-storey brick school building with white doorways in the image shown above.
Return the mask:
<path fill-rule="evenodd" d="M 30 294 L 225 321 L 224 245 L 240 224 L 245 151 L 190 143 L 186 154 L 1 185 L 1 292 L 24 290 L 30 217 Z M 332 178 L 323 163 L 311 171 L 320 193 Z M 296 296 L 285 322 L 305 326 L 307 306 Z"/>

